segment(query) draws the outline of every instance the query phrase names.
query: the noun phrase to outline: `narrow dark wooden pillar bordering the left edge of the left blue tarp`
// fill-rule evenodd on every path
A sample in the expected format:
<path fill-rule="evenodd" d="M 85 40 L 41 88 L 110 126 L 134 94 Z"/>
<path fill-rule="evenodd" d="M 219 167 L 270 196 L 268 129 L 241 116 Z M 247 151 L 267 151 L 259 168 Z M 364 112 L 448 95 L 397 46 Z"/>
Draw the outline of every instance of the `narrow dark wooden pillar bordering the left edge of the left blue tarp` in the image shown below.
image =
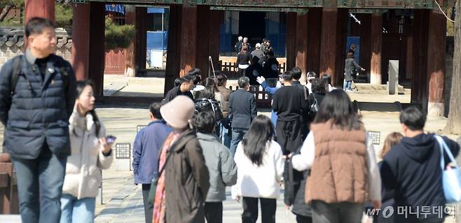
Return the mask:
<path fill-rule="evenodd" d="M 146 69 L 146 49 L 147 49 L 147 8 L 136 7 L 136 36 L 135 36 L 135 69 L 139 75 L 140 70 Z"/>

